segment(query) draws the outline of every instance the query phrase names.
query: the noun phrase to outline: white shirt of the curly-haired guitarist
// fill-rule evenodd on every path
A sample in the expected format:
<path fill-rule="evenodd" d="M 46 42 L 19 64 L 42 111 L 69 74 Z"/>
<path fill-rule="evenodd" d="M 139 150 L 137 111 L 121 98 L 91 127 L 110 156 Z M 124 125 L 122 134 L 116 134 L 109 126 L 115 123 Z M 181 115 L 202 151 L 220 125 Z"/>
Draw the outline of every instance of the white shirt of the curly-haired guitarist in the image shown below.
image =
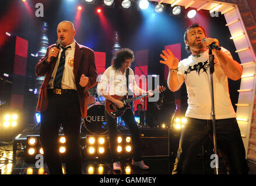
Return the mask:
<path fill-rule="evenodd" d="M 129 68 L 128 78 L 129 90 L 135 94 L 139 94 L 141 88 L 136 84 L 134 71 L 131 68 Z M 102 92 L 100 90 L 107 91 L 109 95 L 127 95 L 126 70 L 122 74 L 120 70 L 115 70 L 113 66 L 108 67 L 101 76 L 100 83 L 97 85 L 97 93 L 101 95 Z"/>

